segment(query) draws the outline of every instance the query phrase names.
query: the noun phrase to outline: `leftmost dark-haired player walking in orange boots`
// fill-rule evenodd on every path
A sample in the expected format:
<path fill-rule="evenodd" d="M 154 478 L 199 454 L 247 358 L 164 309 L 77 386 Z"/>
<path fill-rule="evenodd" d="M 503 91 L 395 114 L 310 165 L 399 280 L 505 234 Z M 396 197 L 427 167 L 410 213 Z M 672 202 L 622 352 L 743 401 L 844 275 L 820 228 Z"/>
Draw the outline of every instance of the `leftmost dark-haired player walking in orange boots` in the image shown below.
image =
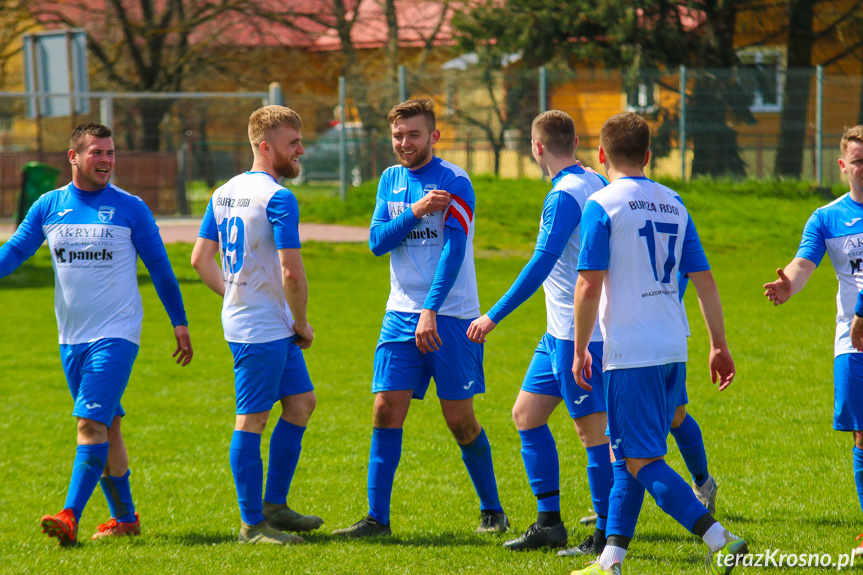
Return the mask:
<path fill-rule="evenodd" d="M 78 522 L 96 484 L 111 520 L 93 539 L 138 535 L 120 404 L 141 342 L 141 256 L 174 326 L 177 363 L 192 360 L 180 286 L 153 214 L 140 198 L 110 183 L 114 140 L 101 124 L 81 124 L 69 143 L 72 182 L 40 197 L 0 248 L 0 277 L 12 273 L 46 239 L 53 255 L 54 310 L 60 357 L 78 418 L 78 447 L 63 510 L 42 518 L 61 545 L 78 542 Z"/>

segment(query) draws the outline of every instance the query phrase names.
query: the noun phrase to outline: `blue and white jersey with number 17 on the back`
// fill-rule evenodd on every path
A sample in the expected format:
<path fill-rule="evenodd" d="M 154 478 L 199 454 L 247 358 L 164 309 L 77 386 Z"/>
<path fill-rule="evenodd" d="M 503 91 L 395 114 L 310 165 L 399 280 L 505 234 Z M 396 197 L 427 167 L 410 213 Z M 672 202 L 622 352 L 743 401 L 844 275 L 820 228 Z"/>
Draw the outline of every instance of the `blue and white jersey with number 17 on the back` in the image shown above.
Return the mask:
<path fill-rule="evenodd" d="M 710 266 L 680 196 L 647 178 L 620 178 L 593 194 L 581 219 L 578 269 L 606 270 L 603 370 L 687 360 L 678 272 Z"/>

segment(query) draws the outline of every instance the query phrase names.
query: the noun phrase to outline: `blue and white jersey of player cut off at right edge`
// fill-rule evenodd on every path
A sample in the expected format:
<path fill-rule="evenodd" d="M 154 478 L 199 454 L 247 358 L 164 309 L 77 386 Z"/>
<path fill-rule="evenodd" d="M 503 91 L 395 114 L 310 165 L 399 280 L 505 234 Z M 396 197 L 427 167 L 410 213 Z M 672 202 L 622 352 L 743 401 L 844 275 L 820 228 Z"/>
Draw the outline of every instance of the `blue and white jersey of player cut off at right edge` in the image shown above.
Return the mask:
<path fill-rule="evenodd" d="M 803 228 L 797 257 L 817 266 L 825 251 L 839 281 L 833 353 L 858 353 L 849 332 L 857 293 L 863 289 L 863 204 L 852 200 L 850 193 L 815 210 Z"/>

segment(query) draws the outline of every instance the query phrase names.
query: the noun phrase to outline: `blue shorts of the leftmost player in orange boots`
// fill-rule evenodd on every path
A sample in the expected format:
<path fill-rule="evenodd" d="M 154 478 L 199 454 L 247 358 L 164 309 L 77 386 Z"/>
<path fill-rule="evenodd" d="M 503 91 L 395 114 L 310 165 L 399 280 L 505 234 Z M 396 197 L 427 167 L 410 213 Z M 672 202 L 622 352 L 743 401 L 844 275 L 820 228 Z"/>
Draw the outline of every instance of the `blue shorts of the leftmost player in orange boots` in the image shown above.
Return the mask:
<path fill-rule="evenodd" d="M 126 412 L 120 398 L 129 384 L 138 345 L 127 339 L 106 338 L 89 343 L 60 344 L 60 360 L 75 400 L 72 415 L 111 427 Z"/>

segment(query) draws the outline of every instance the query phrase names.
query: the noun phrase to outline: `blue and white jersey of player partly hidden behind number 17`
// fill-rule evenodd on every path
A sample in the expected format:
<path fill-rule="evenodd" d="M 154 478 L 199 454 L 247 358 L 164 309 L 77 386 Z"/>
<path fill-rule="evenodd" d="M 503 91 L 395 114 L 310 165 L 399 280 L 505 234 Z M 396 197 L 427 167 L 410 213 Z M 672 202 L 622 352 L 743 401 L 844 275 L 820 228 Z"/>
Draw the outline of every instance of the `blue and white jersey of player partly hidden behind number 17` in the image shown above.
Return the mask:
<path fill-rule="evenodd" d="M 551 183 L 553 187 L 542 205 L 536 249 L 547 250 L 563 242 L 565 247 L 542 284 L 545 292 L 547 329 L 548 333 L 558 339 L 574 341 L 575 321 L 572 302 L 575 295 L 575 282 L 578 280 L 581 214 L 587 198 L 605 187 L 606 182 L 596 174 L 586 172 L 578 166 L 571 166 L 561 170 L 552 178 Z M 557 220 L 563 220 L 560 222 L 563 225 L 556 225 Z M 554 233 L 568 233 L 569 237 L 555 238 Z M 557 253 L 558 250 L 554 251 Z M 602 341 L 598 321 L 591 341 Z"/>

